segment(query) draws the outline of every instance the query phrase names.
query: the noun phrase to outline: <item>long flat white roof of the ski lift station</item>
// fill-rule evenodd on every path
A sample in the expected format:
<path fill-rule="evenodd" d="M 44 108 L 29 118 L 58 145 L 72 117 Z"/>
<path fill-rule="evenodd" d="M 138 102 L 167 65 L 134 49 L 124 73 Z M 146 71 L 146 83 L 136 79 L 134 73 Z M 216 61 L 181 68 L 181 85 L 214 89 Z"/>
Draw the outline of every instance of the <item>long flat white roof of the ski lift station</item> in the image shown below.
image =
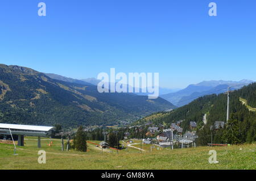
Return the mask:
<path fill-rule="evenodd" d="M 23 124 L 5 124 L 0 123 L 0 129 L 24 129 L 24 130 L 32 130 L 32 131 L 44 131 L 48 132 L 54 127 L 44 127 L 44 126 L 35 126 L 35 125 L 23 125 Z"/>

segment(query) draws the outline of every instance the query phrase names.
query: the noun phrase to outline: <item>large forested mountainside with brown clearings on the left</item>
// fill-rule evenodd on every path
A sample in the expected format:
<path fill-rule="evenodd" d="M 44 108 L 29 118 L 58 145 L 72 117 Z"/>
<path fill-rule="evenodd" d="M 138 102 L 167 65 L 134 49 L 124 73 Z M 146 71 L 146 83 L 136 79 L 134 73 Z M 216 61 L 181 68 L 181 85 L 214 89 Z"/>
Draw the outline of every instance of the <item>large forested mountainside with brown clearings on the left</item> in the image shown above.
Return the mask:
<path fill-rule="evenodd" d="M 174 106 L 162 98 L 102 93 L 93 85 L 51 79 L 38 71 L 0 64 L 0 123 L 112 125 Z"/>

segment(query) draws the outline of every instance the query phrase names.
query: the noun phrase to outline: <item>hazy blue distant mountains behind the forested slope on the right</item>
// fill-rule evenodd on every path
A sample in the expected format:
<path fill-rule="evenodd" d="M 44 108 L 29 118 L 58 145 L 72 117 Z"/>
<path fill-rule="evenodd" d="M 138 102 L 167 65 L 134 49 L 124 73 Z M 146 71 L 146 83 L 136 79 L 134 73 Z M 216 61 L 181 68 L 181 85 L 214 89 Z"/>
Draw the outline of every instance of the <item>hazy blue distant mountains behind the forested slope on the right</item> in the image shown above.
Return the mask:
<path fill-rule="evenodd" d="M 195 85 L 189 85 L 183 90 L 170 94 L 160 95 L 177 107 L 184 106 L 203 95 L 220 94 L 231 87 L 232 90 L 240 89 L 254 81 L 242 79 L 241 81 L 203 81 Z"/>

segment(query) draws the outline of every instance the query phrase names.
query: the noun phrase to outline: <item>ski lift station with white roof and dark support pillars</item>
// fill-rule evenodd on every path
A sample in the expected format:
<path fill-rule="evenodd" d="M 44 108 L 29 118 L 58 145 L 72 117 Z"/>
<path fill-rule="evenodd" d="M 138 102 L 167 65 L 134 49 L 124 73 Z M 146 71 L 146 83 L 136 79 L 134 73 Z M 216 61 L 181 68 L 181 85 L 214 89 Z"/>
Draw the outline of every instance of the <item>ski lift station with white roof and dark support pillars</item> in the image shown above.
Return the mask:
<path fill-rule="evenodd" d="M 3 124 L 0 123 L 0 134 L 17 135 L 18 145 L 24 146 L 24 135 L 38 136 L 38 148 L 41 147 L 40 137 L 47 137 L 51 134 L 53 127 L 20 125 L 20 124 Z"/>

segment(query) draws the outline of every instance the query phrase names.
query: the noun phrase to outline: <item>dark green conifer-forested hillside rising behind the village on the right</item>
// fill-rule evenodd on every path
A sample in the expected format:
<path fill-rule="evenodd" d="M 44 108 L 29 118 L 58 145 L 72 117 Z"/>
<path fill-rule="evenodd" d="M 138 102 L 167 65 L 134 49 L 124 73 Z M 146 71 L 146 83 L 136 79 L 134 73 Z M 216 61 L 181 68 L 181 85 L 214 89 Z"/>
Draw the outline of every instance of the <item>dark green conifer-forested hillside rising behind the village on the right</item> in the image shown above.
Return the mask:
<path fill-rule="evenodd" d="M 241 102 L 241 99 L 247 100 L 246 104 Z M 256 83 L 251 83 L 240 90 L 230 92 L 230 116 L 228 124 L 225 128 L 213 132 L 214 142 L 232 144 L 240 144 L 242 142 L 252 142 L 256 140 Z M 199 139 L 197 143 L 206 145 L 210 142 L 210 127 L 215 121 L 224 121 L 226 123 L 226 107 L 227 95 L 207 95 L 200 97 L 193 102 L 177 108 L 171 112 L 155 113 L 155 116 L 147 116 L 138 120 L 134 124 L 144 124 L 152 122 L 155 125 L 171 124 L 179 120 L 184 120 L 181 123 L 183 132 L 190 131 L 189 122 L 196 121 L 197 134 Z M 251 108 L 251 110 L 249 109 Z M 207 115 L 207 124 L 203 123 L 203 116 Z"/>

